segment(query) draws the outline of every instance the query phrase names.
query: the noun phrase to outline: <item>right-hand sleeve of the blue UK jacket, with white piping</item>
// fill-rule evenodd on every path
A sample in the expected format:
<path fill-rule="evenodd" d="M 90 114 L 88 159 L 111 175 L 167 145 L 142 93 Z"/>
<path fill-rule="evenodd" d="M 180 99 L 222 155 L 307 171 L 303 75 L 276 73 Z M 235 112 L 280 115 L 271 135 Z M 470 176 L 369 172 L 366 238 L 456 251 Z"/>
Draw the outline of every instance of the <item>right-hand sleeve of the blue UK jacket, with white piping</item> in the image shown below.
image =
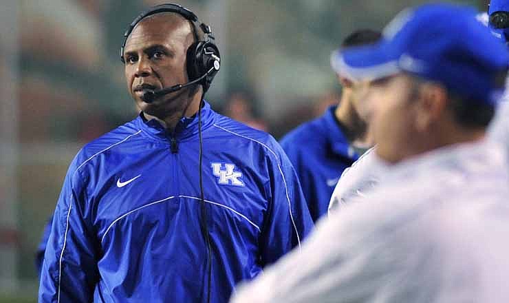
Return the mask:
<path fill-rule="evenodd" d="M 313 228 L 301 185 L 295 170 L 281 147 L 275 143 L 270 155 L 267 184 L 268 213 L 261 231 L 261 262 L 276 262 L 301 241 Z"/>

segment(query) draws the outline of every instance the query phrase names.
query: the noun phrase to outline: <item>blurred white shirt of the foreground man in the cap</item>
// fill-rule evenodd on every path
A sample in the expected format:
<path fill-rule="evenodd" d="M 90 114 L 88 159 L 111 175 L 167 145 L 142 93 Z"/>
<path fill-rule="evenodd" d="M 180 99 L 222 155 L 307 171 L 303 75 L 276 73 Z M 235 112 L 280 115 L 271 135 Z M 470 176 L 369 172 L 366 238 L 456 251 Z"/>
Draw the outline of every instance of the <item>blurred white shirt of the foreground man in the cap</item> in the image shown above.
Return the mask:
<path fill-rule="evenodd" d="M 230 302 L 509 302 L 507 171 L 486 141 L 395 165 Z"/>

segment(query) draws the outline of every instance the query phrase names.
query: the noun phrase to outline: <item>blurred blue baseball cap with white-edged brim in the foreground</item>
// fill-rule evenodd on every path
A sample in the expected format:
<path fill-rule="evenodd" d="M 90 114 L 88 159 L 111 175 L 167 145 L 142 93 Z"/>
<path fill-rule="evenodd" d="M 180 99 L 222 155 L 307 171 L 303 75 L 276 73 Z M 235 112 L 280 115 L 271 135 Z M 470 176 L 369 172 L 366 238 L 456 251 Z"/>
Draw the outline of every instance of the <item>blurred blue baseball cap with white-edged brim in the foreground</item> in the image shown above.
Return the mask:
<path fill-rule="evenodd" d="M 332 66 L 356 80 L 408 72 L 469 100 L 495 104 L 509 53 L 476 14 L 468 6 L 445 3 L 403 10 L 379 43 L 333 52 Z"/>

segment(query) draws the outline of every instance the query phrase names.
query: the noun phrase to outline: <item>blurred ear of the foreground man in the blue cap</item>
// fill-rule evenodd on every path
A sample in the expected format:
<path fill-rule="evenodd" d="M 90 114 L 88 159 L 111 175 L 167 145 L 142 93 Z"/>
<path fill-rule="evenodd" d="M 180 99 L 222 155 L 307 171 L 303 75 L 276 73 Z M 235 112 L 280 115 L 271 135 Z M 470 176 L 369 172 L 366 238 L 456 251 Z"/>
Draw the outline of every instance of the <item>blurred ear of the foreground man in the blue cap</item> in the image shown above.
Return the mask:
<path fill-rule="evenodd" d="M 446 112 L 447 90 L 437 83 L 422 83 L 416 102 L 415 125 L 424 132 L 440 121 Z"/>

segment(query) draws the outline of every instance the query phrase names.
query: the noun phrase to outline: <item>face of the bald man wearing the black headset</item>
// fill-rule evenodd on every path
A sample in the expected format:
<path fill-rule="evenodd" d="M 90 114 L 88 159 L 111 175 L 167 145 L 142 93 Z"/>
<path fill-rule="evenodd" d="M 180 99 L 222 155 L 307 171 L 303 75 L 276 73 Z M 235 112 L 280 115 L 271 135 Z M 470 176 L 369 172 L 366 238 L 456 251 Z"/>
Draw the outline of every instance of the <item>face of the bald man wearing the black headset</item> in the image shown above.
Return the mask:
<path fill-rule="evenodd" d="M 195 87 L 145 103 L 146 90 L 188 82 L 186 51 L 194 41 L 191 24 L 178 14 L 160 13 L 143 19 L 129 35 L 124 52 L 127 87 L 136 105 L 158 118 L 182 110 Z"/>

